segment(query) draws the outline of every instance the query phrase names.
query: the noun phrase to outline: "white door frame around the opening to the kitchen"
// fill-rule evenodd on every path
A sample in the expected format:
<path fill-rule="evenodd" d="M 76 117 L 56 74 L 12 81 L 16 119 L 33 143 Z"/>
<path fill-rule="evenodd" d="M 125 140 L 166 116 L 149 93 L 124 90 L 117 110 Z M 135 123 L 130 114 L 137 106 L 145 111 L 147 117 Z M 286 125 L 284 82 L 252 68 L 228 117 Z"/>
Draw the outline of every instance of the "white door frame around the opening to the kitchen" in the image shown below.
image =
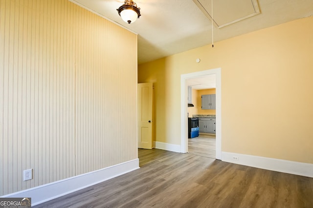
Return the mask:
<path fill-rule="evenodd" d="M 201 77 L 204 75 L 215 74 L 216 76 L 216 159 L 222 160 L 222 94 L 221 94 L 221 68 L 209 69 L 199 72 L 180 75 L 180 151 L 188 152 L 188 86 L 186 80 L 190 78 Z"/>

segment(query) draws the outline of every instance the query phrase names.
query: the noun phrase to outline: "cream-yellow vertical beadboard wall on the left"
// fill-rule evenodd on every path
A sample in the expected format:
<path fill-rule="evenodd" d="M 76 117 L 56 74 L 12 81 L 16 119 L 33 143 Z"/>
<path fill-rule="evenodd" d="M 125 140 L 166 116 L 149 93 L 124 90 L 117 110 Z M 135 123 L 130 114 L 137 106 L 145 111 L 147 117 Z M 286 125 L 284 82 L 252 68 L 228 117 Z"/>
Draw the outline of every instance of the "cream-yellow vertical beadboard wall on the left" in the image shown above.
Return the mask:
<path fill-rule="evenodd" d="M 0 0 L 0 195 L 136 159 L 136 60 L 70 1 Z"/>

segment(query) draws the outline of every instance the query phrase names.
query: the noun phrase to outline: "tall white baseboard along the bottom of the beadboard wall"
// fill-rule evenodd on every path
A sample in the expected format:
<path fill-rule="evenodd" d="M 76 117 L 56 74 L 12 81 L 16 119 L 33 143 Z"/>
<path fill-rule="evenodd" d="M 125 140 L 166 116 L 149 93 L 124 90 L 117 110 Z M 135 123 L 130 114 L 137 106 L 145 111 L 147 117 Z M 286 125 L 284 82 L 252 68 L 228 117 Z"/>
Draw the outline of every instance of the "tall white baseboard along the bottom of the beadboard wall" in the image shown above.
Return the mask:
<path fill-rule="evenodd" d="M 33 187 L 1 197 L 28 197 L 31 198 L 32 206 L 64 196 L 74 191 L 90 187 L 107 181 L 119 175 L 131 172 L 139 168 L 139 159 L 131 160 L 115 166 L 88 172 L 82 175 L 70 177 L 64 180 Z"/>

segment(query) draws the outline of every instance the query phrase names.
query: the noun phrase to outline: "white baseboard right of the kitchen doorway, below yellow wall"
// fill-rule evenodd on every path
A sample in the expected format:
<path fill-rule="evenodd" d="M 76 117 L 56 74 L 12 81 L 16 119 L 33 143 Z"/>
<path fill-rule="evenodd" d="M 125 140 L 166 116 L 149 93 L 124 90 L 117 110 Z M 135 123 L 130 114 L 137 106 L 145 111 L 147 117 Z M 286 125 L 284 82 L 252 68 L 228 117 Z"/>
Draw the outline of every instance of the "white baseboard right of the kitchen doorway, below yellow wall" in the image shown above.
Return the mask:
<path fill-rule="evenodd" d="M 236 159 L 234 159 L 234 157 Z M 313 164 L 222 152 L 222 161 L 313 178 Z"/>

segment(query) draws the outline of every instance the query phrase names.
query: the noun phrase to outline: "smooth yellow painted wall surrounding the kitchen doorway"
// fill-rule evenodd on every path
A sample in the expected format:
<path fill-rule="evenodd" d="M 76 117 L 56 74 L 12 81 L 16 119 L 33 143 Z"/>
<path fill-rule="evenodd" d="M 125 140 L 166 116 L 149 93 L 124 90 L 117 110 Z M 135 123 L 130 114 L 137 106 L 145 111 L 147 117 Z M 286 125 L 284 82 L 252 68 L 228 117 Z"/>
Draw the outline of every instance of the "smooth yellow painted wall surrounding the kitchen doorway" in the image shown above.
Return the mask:
<path fill-rule="evenodd" d="M 139 65 L 156 141 L 180 144 L 180 75 L 221 67 L 222 151 L 313 164 L 312 34 L 303 18 Z"/>

